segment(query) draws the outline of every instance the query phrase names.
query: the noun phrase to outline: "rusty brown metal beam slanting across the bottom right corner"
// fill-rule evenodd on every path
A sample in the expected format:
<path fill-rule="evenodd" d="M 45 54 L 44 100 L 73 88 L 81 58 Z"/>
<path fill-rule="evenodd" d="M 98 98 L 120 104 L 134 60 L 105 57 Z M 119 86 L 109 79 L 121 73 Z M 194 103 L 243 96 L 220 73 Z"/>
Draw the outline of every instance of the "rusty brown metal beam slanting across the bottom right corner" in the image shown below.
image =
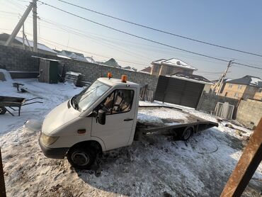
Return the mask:
<path fill-rule="evenodd" d="M 262 118 L 220 197 L 241 196 L 262 160 Z"/>

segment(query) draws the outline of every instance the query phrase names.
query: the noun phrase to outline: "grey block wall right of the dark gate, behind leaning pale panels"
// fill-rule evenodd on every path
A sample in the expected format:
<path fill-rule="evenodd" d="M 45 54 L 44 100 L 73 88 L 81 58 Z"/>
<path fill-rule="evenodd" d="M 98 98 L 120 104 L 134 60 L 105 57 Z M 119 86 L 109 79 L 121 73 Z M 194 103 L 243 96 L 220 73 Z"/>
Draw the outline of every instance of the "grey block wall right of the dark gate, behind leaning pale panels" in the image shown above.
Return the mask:
<path fill-rule="evenodd" d="M 239 102 L 239 100 L 203 92 L 203 95 L 201 96 L 200 101 L 198 103 L 197 110 L 212 113 L 215 111 L 215 106 L 217 105 L 217 102 L 228 102 L 230 105 L 233 105 L 235 106 L 235 108 L 237 108 L 237 103 Z"/>

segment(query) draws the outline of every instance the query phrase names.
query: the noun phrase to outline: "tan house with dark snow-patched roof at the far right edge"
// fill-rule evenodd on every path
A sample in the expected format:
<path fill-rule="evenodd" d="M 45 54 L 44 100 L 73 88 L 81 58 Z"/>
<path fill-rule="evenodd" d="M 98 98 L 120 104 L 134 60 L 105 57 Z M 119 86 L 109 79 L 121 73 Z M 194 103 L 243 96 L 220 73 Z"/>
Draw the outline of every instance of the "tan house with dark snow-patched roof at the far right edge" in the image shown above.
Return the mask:
<path fill-rule="evenodd" d="M 220 91 L 220 96 L 226 96 L 232 99 L 256 99 L 262 91 L 262 80 L 259 77 L 246 75 L 239 79 L 225 81 Z"/>

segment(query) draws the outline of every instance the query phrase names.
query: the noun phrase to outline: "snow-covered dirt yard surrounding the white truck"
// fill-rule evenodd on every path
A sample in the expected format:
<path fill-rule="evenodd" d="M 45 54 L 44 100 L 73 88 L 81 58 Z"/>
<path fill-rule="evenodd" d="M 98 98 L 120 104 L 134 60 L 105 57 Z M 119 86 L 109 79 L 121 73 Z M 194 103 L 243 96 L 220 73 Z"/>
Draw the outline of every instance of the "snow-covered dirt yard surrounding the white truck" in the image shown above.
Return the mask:
<path fill-rule="evenodd" d="M 75 170 L 67 159 L 46 158 L 38 145 L 38 132 L 23 128 L 28 119 L 43 120 L 59 103 L 79 93 L 72 84 L 43 84 L 19 79 L 27 93 L 18 93 L 11 80 L 0 81 L 1 96 L 43 98 L 43 104 L 23 106 L 21 116 L 0 116 L 0 146 L 8 196 L 220 196 L 246 145 L 251 131 L 219 124 L 218 128 L 193 135 L 187 142 L 166 135 L 147 135 L 130 147 L 106 152 L 91 170 Z M 149 105 L 151 103 L 140 103 Z M 152 103 L 158 105 L 159 103 Z M 181 106 L 178 106 L 183 108 Z M 216 121 L 215 116 L 183 108 L 187 113 Z M 142 119 L 146 112 L 140 111 Z M 150 116 L 169 118 L 170 111 Z M 147 114 L 146 114 L 147 115 Z M 183 113 L 176 117 L 186 120 Z M 100 174 L 101 173 L 101 174 Z M 244 196 L 260 196 L 262 165 Z"/>

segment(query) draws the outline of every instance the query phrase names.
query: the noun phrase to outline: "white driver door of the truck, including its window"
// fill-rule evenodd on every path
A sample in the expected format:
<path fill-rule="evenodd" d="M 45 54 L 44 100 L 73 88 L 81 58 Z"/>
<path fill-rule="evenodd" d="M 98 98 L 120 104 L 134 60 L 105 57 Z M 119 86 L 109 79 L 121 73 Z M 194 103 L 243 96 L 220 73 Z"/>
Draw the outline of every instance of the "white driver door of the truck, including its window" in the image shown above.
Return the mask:
<path fill-rule="evenodd" d="M 96 111 L 106 112 L 106 124 L 101 125 L 93 117 L 91 136 L 103 140 L 106 150 L 128 144 L 135 118 L 135 92 L 134 89 L 115 89 L 96 107 Z"/>

